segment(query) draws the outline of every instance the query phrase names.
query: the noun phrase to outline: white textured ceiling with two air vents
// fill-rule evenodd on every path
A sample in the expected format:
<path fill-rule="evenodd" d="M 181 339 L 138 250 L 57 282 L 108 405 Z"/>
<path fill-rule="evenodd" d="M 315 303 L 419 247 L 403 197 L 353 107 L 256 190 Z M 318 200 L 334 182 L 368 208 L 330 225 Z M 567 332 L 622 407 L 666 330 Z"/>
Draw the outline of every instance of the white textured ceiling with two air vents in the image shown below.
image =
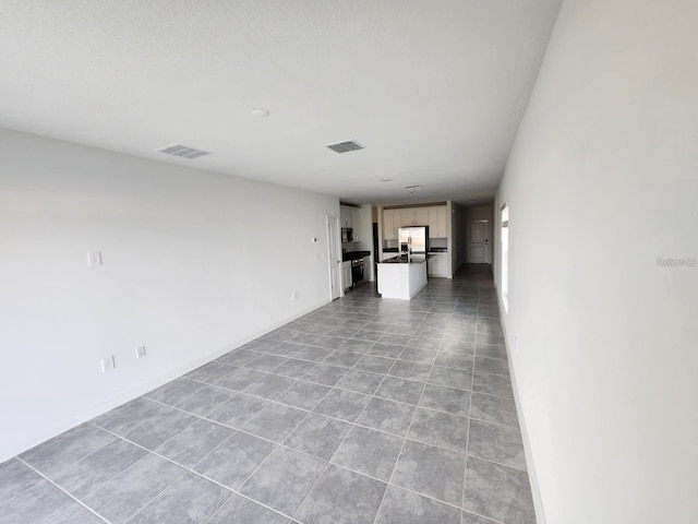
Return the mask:
<path fill-rule="evenodd" d="M 0 127 L 354 203 L 482 202 L 558 8 L 3 0 Z M 348 140 L 365 148 L 326 147 Z M 156 151 L 172 143 L 212 154 Z"/>

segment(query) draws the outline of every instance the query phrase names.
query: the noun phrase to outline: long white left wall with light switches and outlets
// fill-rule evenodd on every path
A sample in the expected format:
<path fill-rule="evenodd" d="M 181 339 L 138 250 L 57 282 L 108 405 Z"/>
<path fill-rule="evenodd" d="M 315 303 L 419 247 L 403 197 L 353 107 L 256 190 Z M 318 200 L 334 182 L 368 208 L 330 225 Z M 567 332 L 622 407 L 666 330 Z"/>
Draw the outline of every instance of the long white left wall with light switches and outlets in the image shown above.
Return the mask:
<path fill-rule="evenodd" d="M 337 199 L 7 130 L 0 158 L 0 461 L 329 300 Z"/>

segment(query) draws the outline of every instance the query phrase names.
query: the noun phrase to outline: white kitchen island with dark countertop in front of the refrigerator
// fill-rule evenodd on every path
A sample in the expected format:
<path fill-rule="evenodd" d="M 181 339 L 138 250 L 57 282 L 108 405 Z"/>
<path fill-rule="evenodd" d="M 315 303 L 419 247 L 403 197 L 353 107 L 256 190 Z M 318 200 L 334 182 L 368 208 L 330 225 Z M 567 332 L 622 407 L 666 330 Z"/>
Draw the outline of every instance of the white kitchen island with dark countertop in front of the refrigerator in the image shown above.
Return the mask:
<path fill-rule="evenodd" d="M 383 298 L 411 300 L 426 285 L 426 259 L 413 254 L 395 257 L 378 264 L 378 293 Z"/>

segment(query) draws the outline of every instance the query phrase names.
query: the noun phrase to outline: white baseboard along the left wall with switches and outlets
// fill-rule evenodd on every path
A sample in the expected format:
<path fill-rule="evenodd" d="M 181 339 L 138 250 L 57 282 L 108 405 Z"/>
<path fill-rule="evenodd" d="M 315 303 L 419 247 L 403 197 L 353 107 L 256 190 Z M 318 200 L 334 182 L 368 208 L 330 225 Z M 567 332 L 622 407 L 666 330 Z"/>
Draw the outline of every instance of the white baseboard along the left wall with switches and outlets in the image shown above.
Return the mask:
<path fill-rule="evenodd" d="M 143 395 L 144 393 L 147 393 L 148 391 L 152 391 L 156 388 L 159 388 L 160 385 L 164 385 L 183 374 L 189 373 L 190 371 L 193 371 L 194 369 L 203 366 L 206 362 L 209 362 L 212 360 L 215 360 L 216 358 L 225 355 L 226 353 L 236 349 L 240 346 L 243 346 L 245 344 L 248 344 L 249 342 L 254 341 L 255 338 L 258 338 L 260 336 L 266 335 L 267 333 L 270 333 L 274 330 L 277 330 L 279 327 L 281 327 L 282 325 L 288 324 L 289 322 L 292 322 L 297 319 L 300 319 L 301 317 L 315 311 L 318 308 L 322 308 L 323 306 L 326 306 L 330 303 L 329 299 L 323 300 L 322 302 L 320 302 L 318 305 L 315 305 L 304 311 L 294 313 L 293 315 L 279 321 L 279 322 L 275 322 L 274 324 L 265 327 L 264 330 L 261 330 L 256 333 L 253 333 L 249 336 L 245 336 L 244 338 L 241 338 L 239 341 L 236 341 L 236 343 L 226 346 L 226 347 L 221 347 L 216 349 L 215 352 L 208 353 L 205 356 L 201 356 L 198 358 L 195 358 L 194 360 L 191 360 L 190 362 L 188 362 L 186 365 L 180 366 L 177 369 L 173 369 L 165 374 L 161 374 L 160 377 L 151 380 L 148 382 L 145 382 L 136 388 L 132 388 L 117 396 L 113 396 L 111 398 L 109 398 L 108 401 L 105 402 L 100 402 L 99 404 L 95 404 L 94 406 L 91 406 L 89 408 L 85 409 L 84 412 L 81 412 L 80 414 L 76 414 L 72 417 L 67 417 L 65 419 L 62 419 L 60 421 L 57 421 L 56 424 L 52 424 L 50 428 L 46 428 L 46 431 L 43 432 L 41 436 L 39 436 L 35 441 L 33 442 L 28 442 L 26 446 L 24 446 L 23 449 L 20 450 L 14 450 L 11 451 L 11 455 L 9 456 L 0 456 L 0 463 L 12 458 L 15 455 L 19 455 L 21 453 L 24 453 L 27 450 L 31 450 L 32 448 L 46 442 L 47 440 L 57 437 L 72 428 L 74 428 L 75 426 L 80 426 L 81 424 L 84 424 L 88 420 L 92 420 L 93 418 L 107 413 L 111 409 L 113 409 L 115 407 L 119 407 L 122 404 L 125 404 L 127 402 L 130 402 L 134 398 L 137 398 L 139 396 Z"/>

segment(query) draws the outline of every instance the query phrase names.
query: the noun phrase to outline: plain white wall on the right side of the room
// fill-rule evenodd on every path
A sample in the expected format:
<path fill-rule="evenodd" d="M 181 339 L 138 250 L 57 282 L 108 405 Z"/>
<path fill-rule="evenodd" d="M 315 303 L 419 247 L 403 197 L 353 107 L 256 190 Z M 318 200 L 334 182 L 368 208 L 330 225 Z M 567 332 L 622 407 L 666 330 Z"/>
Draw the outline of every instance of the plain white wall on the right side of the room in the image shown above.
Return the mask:
<path fill-rule="evenodd" d="M 498 192 L 547 523 L 698 522 L 698 267 L 657 265 L 698 258 L 696 27 L 694 0 L 565 1 Z"/>

